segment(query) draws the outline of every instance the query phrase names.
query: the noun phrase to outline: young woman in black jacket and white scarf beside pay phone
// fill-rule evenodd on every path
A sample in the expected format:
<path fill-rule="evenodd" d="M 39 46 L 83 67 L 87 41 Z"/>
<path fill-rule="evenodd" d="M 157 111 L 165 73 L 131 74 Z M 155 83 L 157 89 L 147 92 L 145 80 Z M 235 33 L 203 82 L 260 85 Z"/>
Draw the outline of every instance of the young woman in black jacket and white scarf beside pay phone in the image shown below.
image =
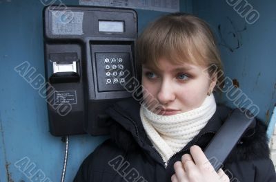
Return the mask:
<path fill-rule="evenodd" d="M 143 102 L 122 100 L 106 111 L 111 138 L 83 161 L 75 182 L 276 181 L 262 122 L 248 128 L 219 172 L 202 152 L 231 112 L 213 96 L 223 76 L 204 21 L 161 17 L 139 36 L 137 61 Z"/>

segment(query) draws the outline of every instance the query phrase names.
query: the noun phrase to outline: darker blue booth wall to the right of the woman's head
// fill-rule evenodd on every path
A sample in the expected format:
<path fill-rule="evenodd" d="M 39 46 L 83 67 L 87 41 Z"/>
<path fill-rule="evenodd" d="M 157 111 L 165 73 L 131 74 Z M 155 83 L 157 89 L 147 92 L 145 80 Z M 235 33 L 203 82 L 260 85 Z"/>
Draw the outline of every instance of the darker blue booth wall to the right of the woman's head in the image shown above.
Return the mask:
<path fill-rule="evenodd" d="M 253 24 L 246 22 L 235 10 L 239 8 L 234 2 L 248 2 L 259 13 L 259 19 Z M 239 89 L 259 107 L 257 117 L 266 124 L 276 104 L 275 8 L 273 0 L 193 1 L 193 12 L 206 20 L 217 36 L 226 76 L 239 82 Z M 242 14 L 249 12 L 244 10 Z M 225 95 L 220 101 L 235 106 Z"/>

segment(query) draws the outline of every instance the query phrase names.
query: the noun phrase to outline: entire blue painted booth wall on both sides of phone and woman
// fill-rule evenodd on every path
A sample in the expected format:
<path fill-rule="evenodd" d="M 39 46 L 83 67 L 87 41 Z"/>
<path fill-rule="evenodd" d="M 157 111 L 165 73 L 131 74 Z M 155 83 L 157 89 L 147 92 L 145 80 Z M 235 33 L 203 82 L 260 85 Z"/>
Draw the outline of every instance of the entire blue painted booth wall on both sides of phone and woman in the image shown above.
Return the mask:
<path fill-rule="evenodd" d="M 77 0 L 62 3 L 78 5 Z M 226 1 L 187 0 L 180 1 L 180 7 L 183 12 L 199 14 L 215 31 L 219 24 L 224 31 L 231 27 L 227 17 L 235 22 L 242 36 L 242 46 L 234 52 L 220 46 L 226 75 L 239 81 L 240 88 L 260 107 L 259 117 L 266 120 L 265 113 L 272 111 L 276 99 L 273 72 L 276 2 L 256 0 L 250 3 L 261 15 L 253 25 L 246 25 Z M 46 102 L 14 71 L 14 67 L 28 61 L 37 74 L 44 74 L 42 10 L 43 4 L 37 0 L 0 0 L 0 182 L 34 181 L 30 177 L 35 172 L 44 174 L 48 178 L 46 181 L 59 181 L 61 176 L 64 143 L 48 132 Z M 165 14 L 147 10 L 137 12 L 139 32 L 148 22 Z M 245 25 L 246 30 L 242 31 Z M 224 34 L 227 43 L 235 47 L 237 40 L 227 31 Z M 221 101 L 231 104 L 226 98 Z M 107 137 L 70 137 L 66 181 L 72 181 L 81 161 Z M 25 172 L 15 165 L 21 159 L 30 166 Z"/>

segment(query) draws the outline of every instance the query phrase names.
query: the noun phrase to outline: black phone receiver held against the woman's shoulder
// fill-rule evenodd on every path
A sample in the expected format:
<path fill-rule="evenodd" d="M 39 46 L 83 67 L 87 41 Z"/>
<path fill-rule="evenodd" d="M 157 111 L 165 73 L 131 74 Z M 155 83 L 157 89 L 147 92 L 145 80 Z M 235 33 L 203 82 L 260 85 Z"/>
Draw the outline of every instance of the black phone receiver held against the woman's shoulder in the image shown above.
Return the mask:
<path fill-rule="evenodd" d="M 215 168 L 215 171 L 223 166 L 230 152 L 254 121 L 255 117 L 250 111 L 244 109 L 233 110 L 233 113 L 226 119 L 204 150 L 204 154 Z"/>

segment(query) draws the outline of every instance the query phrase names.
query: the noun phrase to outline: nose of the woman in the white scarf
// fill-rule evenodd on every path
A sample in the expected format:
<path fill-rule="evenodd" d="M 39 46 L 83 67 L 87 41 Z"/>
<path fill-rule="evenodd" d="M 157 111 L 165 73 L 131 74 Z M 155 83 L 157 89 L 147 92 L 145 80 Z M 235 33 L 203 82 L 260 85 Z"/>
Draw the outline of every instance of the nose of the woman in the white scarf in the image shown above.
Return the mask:
<path fill-rule="evenodd" d="M 175 91 L 172 84 L 170 84 L 170 80 L 162 81 L 159 92 L 157 93 L 157 99 L 160 104 L 167 104 L 175 100 Z"/>

